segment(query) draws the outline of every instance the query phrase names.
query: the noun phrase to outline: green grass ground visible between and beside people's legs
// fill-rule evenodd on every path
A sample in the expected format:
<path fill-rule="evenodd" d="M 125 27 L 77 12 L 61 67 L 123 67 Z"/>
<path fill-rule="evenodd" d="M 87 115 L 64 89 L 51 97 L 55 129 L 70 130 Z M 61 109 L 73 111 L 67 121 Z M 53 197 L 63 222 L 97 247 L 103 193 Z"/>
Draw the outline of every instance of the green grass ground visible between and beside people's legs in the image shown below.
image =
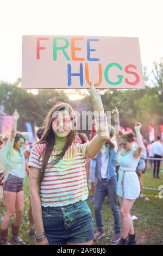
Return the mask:
<path fill-rule="evenodd" d="M 161 166 L 163 169 L 163 166 Z M 152 171 L 147 169 L 147 172 L 142 175 L 143 187 L 159 188 L 163 185 L 163 171 L 160 173 L 161 179 L 153 179 Z M 25 200 L 23 219 L 20 228 L 20 234 L 26 245 L 33 245 L 34 241 L 29 239 L 29 186 L 28 178 L 24 185 Z M 131 215 L 137 216 L 139 219 L 134 221 L 135 232 L 137 236 L 137 243 L 139 245 L 163 245 L 163 198 L 160 199 L 157 191 L 143 190 L 144 197 L 136 200 Z M 162 193 L 163 195 L 163 193 Z M 149 198 L 145 202 L 145 198 Z M 93 203 L 87 200 L 91 210 L 92 216 L 95 220 L 93 213 Z M 0 206 L 0 219 L 5 213 L 5 208 Z M 108 198 L 105 199 L 102 209 L 103 224 L 105 228 L 105 236 L 94 243 L 96 245 L 110 245 L 110 237 L 114 233 L 114 220 L 108 204 Z M 13 218 L 12 218 L 13 219 Z M 95 221 L 94 221 L 95 224 Z M 96 230 L 96 224 L 95 224 Z M 11 235 L 9 233 L 9 235 Z"/>

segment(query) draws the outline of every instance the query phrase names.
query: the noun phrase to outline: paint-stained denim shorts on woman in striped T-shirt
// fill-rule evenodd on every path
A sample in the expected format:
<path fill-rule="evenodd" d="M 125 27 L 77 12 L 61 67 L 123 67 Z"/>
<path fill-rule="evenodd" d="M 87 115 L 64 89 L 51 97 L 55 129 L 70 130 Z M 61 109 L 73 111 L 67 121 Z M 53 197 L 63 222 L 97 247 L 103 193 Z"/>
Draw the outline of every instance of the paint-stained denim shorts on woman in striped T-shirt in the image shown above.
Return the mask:
<path fill-rule="evenodd" d="M 58 207 L 43 207 L 42 219 L 49 245 L 85 243 L 93 239 L 93 219 L 85 201 Z"/>

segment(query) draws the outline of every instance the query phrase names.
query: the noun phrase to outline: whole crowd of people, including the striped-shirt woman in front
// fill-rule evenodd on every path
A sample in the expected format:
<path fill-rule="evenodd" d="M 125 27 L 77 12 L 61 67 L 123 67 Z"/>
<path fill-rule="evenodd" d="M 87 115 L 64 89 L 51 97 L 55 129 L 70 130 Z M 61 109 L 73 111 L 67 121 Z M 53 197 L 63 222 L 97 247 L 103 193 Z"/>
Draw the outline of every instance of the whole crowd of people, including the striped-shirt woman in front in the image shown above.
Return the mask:
<path fill-rule="evenodd" d="M 19 114 L 7 138 L 0 137 L 0 185 L 5 215 L 0 229 L 0 245 L 10 245 L 8 229 L 11 217 L 12 240 L 22 243 L 22 221 L 26 175 L 29 177 L 29 235 L 36 245 L 92 245 L 104 236 L 102 206 L 106 197 L 114 217 L 114 245 L 135 245 L 136 235 L 130 210 L 142 197 L 141 175 L 151 158 L 153 176 L 159 178 L 163 146 L 160 137 L 148 146 L 140 133 L 120 132 L 118 109 L 112 111 L 114 126 L 107 121 L 99 90 L 89 90 L 95 120 L 90 139 L 77 133 L 77 118 L 72 107 L 58 102 L 47 113 L 38 141 L 26 144 L 26 136 L 17 132 Z M 86 203 L 93 202 L 97 230 Z"/>

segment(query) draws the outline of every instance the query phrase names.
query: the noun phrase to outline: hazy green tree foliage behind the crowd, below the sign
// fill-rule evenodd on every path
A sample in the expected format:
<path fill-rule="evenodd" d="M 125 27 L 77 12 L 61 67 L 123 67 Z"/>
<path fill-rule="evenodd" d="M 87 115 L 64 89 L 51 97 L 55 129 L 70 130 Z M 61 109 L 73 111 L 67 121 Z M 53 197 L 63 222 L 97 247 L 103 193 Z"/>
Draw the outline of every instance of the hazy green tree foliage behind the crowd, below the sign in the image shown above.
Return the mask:
<path fill-rule="evenodd" d="M 153 125 L 156 133 L 159 134 L 159 126 L 163 124 L 163 58 L 160 62 L 154 62 L 153 75 L 155 81 L 145 90 L 120 90 L 102 89 L 102 101 L 105 111 L 112 111 L 115 106 L 120 112 L 120 121 L 123 127 L 134 129 L 136 121 L 143 124 L 143 136 L 148 138 L 148 125 Z M 144 69 L 145 83 L 149 82 L 147 69 Z M 11 115 L 15 109 L 20 113 L 18 130 L 26 130 L 25 122 L 28 121 L 34 126 L 42 125 L 48 110 L 57 102 L 70 103 L 75 111 L 93 111 L 89 95 L 84 99 L 70 101 L 66 90 L 40 89 L 38 94 L 32 94 L 31 90 L 24 90 L 20 87 L 21 79 L 16 83 L 9 84 L 0 82 L 0 105 L 4 105 L 5 112 Z M 83 94 L 82 90 L 76 89 L 76 93 Z"/>

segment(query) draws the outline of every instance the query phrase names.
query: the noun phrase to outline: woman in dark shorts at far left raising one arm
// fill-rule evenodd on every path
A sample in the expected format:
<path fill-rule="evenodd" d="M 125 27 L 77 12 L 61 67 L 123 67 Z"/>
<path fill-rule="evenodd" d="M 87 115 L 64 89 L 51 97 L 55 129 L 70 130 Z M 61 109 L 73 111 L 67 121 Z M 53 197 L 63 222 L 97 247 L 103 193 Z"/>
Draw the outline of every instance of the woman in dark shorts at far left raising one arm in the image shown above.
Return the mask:
<path fill-rule="evenodd" d="M 5 172 L 5 181 L 3 185 L 6 213 L 3 217 L 0 231 L 0 245 L 10 245 L 7 240 L 8 227 L 11 217 L 16 214 L 14 223 L 11 224 L 12 240 L 22 243 L 23 240 L 18 235 L 18 229 L 21 224 L 24 192 L 23 182 L 26 176 L 25 160 L 23 155 L 24 137 L 21 133 L 16 133 L 17 120 L 19 114 L 15 110 L 13 114 L 14 124 L 11 135 L 1 151 L 3 170 Z"/>

